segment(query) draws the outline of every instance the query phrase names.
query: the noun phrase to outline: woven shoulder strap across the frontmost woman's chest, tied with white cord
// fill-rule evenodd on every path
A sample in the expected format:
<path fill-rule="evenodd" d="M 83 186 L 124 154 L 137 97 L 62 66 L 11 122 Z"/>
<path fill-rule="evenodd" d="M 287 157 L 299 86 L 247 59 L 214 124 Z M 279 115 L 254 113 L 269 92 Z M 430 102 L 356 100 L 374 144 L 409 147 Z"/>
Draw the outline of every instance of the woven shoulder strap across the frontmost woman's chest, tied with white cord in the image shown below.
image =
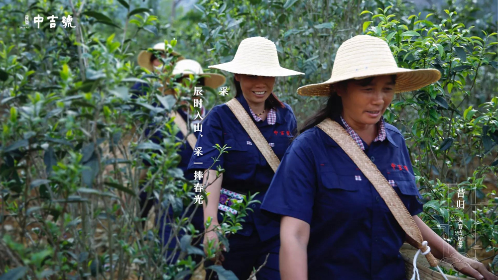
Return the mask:
<path fill-rule="evenodd" d="M 406 209 L 396 191 L 377 169 L 377 166 L 375 166 L 369 157 L 367 157 L 358 144 L 356 144 L 355 140 L 351 138 L 348 132 L 339 123 L 330 118 L 326 118 L 321 123 L 317 124 L 317 126 L 327 133 L 327 135 L 329 135 L 353 160 L 380 194 L 380 197 L 382 197 L 385 204 L 387 204 L 387 207 L 389 207 L 389 210 L 394 215 L 394 218 L 401 228 L 417 242 L 417 248 L 422 250 L 422 252 L 425 252 L 427 248 L 425 245 L 422 245 L 422 233 L 420 233 L 420 229 L 410 215 L 410 212 L 408 212 L 408 209 Z M 425 257 L 432 267 L 437 267 L 438 261 L 431 253 L 428 253 Z"/>

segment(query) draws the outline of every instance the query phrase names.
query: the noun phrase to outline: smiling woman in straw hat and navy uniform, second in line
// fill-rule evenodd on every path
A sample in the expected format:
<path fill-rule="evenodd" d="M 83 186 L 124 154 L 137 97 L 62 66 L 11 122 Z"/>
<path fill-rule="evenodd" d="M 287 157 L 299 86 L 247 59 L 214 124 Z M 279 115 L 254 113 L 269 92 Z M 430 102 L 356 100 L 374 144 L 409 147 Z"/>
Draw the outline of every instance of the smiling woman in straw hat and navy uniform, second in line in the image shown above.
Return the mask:
<path fill-rule="evenodd" d="M 250 192 L 259 192 L 254 199 L 261 199 L 273 177 L 270 164 L 257 147 L 258 143 L 267 142 L 277 161 L 282 158 L 297 133 L 297 122 L 289 105 L 279 101 L 273 93 L 275 77 L 303 74 L 280 67 L 275 44 L 262 37 L 244 39 L 231 62 L 209 66 L 234 73 L 237 94 L 227 102 L 240 103 L 240 110 L 234 114 L 227 104 L 212 108 L 204 120 L 203 137 L 199 137 L 196 147 L 201 147 L 203 155 L 193 155 L 189 171 L 204 171 L 203 183 L 211 194 L 203 203 L 204 220 L 212 217 L 210 228 L 205 234 L 205 246 L 209 240 L 218 242 L 215 230 L 222 221 L 221 211 L 231 210 L 230 197 Z M 233 103 L 232 103 L 233 104 Z M 240 115 L 238 115 L 240 114 Z M 253 126 L 252 132 L 260 132 L 262 137 L 254 140 L 239 121 L 239 116 Z M 213 167 L 213 158 L 219 151 L 216 144 L 229 147 L 228 153 L 220 156 Z M 216 167 L 221 166 L 225 172 L 216 179 Z M 212 169 L 209 169 L 209 168 Z M 223 191 L 223 194 L 220 194 Z M 260 201 L 260 200 L 259 200 Z M 220 202 L 220 203 L 219 203 Z M 223 253 L 223 267 L 235 273 L 239 279 L 247 279 L 253 268 L 258 269 L 269 254 L 266 265 L 257 273 L 258 280 L 279 279 L 278 220 L 270 220 L 259 211 L 259 203 L 250 204 L 251 210 L 242 223 L 243 229 L 229 236 L 230 250 Z M 219 212 L 220 210 L 220 212 Z"/>

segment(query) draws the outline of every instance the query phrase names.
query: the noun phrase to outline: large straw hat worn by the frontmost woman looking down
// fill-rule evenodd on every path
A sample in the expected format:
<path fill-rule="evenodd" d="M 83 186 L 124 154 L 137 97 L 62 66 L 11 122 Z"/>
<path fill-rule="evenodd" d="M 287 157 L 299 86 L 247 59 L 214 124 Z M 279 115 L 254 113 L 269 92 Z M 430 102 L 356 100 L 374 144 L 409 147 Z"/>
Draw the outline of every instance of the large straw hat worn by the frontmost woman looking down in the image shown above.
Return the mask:
<path fill-rule="evenodd" d="M 337 50 L 329 80 L 300 87 L 297 93 L 328 96 L 335 93 L 333 85 L 337 82 L 394 74 L 397 75 L 394 93 L 418 90 L 441 78 L 441 73 L 436 69 L 412 70 L 398 67 L 384 40 L 357 35 L 346 40 Z"/>

